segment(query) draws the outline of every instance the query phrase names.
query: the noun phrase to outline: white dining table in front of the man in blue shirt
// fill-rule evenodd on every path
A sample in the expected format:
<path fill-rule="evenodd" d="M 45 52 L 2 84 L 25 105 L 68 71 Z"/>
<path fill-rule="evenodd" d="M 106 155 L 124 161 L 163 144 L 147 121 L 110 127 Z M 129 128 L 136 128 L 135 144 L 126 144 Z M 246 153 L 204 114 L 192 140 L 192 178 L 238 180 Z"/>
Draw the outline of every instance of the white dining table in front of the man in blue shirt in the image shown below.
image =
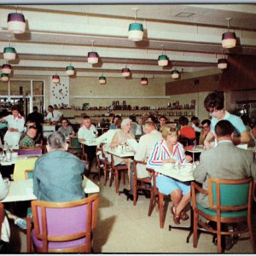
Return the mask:
<path fill-rule="evenodd" d="M 20 181 L 9 181 L 7 186 L 9 187 L 8 195 L 1 202 L 37 200 L 36 195 L 33 194 L 32 178 Z M 87 177 L 84 177 L 82 186 L 85 194 L 100 192 L 99 186 Z"/>

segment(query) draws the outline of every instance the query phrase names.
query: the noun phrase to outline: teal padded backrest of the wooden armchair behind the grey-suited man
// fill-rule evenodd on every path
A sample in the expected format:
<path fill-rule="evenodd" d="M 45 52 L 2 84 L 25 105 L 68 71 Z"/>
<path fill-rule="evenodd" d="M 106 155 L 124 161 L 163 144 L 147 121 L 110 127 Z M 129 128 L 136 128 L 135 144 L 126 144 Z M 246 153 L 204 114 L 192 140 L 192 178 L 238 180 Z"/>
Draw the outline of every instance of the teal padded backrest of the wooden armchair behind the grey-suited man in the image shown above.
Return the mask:
<path fill-rule="evenodd" d="M 253 195 L 251 178 L 230 180 L 209 178 L 209 206 L 221 211 L 250 209 Z"/>

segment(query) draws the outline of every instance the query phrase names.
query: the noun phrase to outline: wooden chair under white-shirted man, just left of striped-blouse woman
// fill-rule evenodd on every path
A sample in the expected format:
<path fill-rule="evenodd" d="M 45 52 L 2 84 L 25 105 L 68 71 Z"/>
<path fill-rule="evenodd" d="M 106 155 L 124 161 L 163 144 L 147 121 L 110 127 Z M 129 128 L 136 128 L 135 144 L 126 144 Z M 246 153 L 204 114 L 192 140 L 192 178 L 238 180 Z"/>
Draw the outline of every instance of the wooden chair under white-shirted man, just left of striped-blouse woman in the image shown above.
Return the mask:
<path fill-rule="evenodd" d="M 137 164 L 146 166 L 147 163 L 143 161 L 133 160 L 133 205 L 137 205 L 137 189 L 148 190 L 151 195 L 151 175 L 150 177 L 137 177 Z M 150 173 L 150 172 L 148 172 Z M 146 186 L 149 184 L 149 186 Z"/>

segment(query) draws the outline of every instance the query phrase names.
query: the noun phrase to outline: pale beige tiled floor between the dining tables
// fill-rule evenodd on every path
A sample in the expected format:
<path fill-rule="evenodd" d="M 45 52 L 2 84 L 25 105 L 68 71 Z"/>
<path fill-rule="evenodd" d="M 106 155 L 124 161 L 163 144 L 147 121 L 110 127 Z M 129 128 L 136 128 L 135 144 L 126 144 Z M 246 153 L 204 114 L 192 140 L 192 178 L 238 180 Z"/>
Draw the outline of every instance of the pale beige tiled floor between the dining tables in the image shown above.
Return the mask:
<path fill-rule="evenodd" d="M 97 183 L 97 180 L 96 180 Z M 159 212 L 148 217 L 149 199 L 139 196 L 137 206 L 126 201 L 125 195 L 100 184 L 101 198 L 93 239 L 94 253 L 216 253 L 212 236 L 201 234 L 198 247 L 193 238 L 186 242 L 188 231 L 168 230 L 172 223 L 169 202 L 164 229 L 160 229 Z M 121 185 L 120 189 L 124 187 Z M 182 224 L 189 224 L 189 220 Z M 12 226 L 12 238 L 8 253 L 26 253 L 26 233 Z M 17 232 L 18 231 L 18 232 Z M 238 243 L 226 253 L 253 253 L 248 240 Z"/>

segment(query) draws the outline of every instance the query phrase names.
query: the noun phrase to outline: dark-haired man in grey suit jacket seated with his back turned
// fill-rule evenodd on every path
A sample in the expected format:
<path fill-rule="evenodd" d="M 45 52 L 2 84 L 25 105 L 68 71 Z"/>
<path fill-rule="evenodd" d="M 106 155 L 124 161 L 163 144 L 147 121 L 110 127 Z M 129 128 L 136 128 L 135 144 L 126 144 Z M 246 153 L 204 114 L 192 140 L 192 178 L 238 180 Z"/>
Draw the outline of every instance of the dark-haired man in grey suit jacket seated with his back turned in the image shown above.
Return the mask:
<path fill-rule="evenodd" d="M 208 189 L 208 178 L 256 180 L 256 164 L 253 163 L 253 151 L 237 148 L 233 142 L 234 126 L 228 120 L 221 120 L 215 125 L 218 147 L 201 153 L 200 165 L 194 172 L 195 181 Z M 198 193 L 196 200 L 202 207 L 208 208 L 208 195 Z M 227 248 L 226 248 L 227 249 Z"/>

